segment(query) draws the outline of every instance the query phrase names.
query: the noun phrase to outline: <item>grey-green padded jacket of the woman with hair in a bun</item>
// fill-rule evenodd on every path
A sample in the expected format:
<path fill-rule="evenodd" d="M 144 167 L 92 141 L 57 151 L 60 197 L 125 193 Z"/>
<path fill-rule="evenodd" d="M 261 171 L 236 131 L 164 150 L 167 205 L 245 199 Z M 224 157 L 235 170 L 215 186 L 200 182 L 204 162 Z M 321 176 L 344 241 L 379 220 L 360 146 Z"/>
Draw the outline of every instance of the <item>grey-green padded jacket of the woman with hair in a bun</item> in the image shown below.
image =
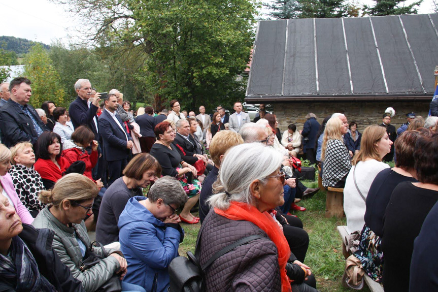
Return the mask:
<path fill-rule="evenodd" d="M 35 228 L 48 228 L 55 232 L 52 246 L 59 255 L 61 262 L 70 268 L 73 277 L 82 282 L 82 286 L 87 292 L 95 291 L 108 281 L 114 273 L 120 269 L 119 262 L 114 256 L 108 256 L 85 272 L 79 270 L 82 262 L 81 249 L 76 240 L 75 230 L 77 236 L 83 241 L 86 246 L 90 246 L 90 238 L 85 228 L 85 223 L 72 224 L 72 227 L 65 226 L 55 216 L 50 213 L 47 205 L 35 218 L 32 225 Z M 102 254 L 102 249 L 94 247 L 95 253 Z M 114 250 L 108 250 L 108 253 Z"/>

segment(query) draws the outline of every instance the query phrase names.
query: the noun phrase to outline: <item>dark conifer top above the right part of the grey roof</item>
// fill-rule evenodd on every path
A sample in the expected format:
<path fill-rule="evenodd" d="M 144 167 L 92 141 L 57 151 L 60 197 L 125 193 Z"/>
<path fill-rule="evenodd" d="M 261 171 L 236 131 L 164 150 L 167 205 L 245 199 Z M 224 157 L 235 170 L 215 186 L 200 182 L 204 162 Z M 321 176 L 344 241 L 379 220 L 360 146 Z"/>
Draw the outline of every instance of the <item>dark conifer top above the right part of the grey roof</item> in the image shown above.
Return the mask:
<path fill-rule="evenodd" d="M 406 0 L 374 0 L 375 6 L 363 6 L 363 11 L 372 16 L 417 14 L 423 0 L 406 5 Z"/>

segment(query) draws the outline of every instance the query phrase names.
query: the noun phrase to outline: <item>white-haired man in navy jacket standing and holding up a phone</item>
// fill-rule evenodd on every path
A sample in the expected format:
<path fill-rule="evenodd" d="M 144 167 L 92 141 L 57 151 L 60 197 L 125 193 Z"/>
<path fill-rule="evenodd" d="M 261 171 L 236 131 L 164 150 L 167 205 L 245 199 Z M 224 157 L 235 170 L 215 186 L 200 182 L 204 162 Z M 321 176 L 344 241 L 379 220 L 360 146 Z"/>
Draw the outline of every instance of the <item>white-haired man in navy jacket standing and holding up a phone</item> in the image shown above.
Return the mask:
<path fill-rule="evenodd" d="M 88 79 L 79 79 L 75 83 L 75 90 L 78 93 L 69 107 L 69 115 L 72 119 L 73 127 L 85 125 L 94 133 L 94 140 L 99 141 L 99 131 L 97 123 L 97 110 L 99 109 L 100 98 L 91 98 L 91 83 Z"/>

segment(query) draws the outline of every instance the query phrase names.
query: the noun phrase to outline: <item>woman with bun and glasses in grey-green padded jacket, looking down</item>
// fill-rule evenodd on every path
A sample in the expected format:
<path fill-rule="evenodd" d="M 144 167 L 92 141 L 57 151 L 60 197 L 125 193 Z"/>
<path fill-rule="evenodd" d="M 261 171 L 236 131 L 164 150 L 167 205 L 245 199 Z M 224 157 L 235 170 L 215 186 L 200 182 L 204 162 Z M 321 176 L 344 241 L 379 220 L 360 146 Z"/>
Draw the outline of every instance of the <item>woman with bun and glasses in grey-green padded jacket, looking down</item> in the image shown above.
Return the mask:
<path fill-rule="evenodd" d="M 40 201 L 48 205 L 32 223 L 35 228 L 47 228 L 55 233 L 53 249 L 62 263 L 70 268 L 73 277 L 80 280 L 89 292 L 97 290 L 114 274 L 123 279 L 127 267 L 124 257 L 109 249 L 106 258 L 84 272 L 80 270 L 86 251 L 91 247 L 84 218 L 92 212 L 98 192 L 91 179 L 77 173 L 65 175 L 53 189 L 40 192 Z M 92 247 L 92 250 L 103 255 L 100 247 Z"/>

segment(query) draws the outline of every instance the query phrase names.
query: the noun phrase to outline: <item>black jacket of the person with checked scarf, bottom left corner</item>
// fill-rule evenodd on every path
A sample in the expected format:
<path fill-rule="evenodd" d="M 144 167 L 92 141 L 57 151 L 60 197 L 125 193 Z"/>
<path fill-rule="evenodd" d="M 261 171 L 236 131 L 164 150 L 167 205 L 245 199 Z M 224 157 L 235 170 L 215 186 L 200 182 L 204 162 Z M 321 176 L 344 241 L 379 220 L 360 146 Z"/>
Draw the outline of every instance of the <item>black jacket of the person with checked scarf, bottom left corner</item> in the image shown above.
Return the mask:
<path fill-rule="evenodd" d="M 23 231 L 18 235 L 29 248 L 38 265 L 41 275 L 60 292 L 85 291 L 82 283 L 73 278 L 70 269 L 62 264 L 52 248 L 54 232 L 49 229 L 36 229 L 23 223 Z M 0 281 L 0 292 L 15 291 L 15 287 Z"/>

